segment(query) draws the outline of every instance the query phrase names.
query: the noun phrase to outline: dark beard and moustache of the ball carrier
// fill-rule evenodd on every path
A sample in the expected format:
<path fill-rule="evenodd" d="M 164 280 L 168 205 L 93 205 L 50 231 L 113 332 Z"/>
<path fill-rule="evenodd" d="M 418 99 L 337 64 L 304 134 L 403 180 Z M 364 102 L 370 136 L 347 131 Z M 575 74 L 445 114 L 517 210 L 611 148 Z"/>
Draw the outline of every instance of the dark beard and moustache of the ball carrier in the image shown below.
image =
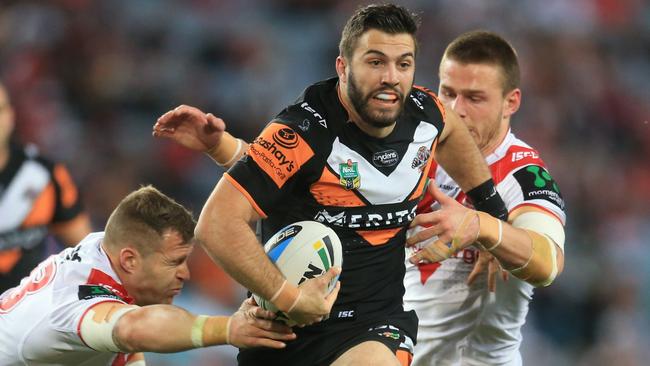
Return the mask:
<path fill-rule="evenodd" d="M 378 92 L 388 90 L 397 94 L 397 103 L 399 103 L 399 107 L 394 111 L 382 111 L 378 109 L 373 110 L 369 104 L 370 99 Z M 402 110 L 404 109 L 404 94 L 390 86 L 384 86 L 382 88 L 375 89 L 364 95 L 363 91 L 359 88 L 354 78 L 354 73 L 351 70 L 348 77 L 348 96 L 350 97 L 352 106 L 357 111 L 361 119 L 369 125 L 377 128 L 391 126 L 393 123 L 395 123 L 397 117 L 402 113 Z"/>

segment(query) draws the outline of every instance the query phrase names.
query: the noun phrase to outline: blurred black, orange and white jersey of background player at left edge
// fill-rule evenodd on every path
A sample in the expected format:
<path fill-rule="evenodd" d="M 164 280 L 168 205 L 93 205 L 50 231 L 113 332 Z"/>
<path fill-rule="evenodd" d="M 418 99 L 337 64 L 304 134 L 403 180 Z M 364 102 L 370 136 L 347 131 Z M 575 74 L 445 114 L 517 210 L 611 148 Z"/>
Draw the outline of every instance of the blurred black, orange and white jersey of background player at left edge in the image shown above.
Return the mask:
<path fill-rule="evenodd" d="M 48 226 L 81 212 L 77 187 L 63 165 L 43 158 L 33 145 L 12 144 L 0 172 L 0 293 L 43 260 Z"/>

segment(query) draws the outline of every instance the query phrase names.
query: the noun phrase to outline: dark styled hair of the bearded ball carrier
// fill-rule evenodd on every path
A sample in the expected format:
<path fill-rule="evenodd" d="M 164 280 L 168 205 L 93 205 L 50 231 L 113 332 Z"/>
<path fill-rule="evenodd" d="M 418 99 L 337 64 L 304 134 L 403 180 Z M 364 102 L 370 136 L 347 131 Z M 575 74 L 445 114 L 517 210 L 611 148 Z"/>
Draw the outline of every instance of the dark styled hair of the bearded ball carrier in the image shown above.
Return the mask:
<path fill-rule="evenodd" d="M 402 6 L 372 4 L 360 7 L 343 27 L 339 53 L 345 58 L 351 58 L 357 41 L 370 29 L 377 29 L 388 34 L 408 33 L 413 36 L 417 50 L 415 33 L 418 30 L 418 23 L 419 17 Z"/>

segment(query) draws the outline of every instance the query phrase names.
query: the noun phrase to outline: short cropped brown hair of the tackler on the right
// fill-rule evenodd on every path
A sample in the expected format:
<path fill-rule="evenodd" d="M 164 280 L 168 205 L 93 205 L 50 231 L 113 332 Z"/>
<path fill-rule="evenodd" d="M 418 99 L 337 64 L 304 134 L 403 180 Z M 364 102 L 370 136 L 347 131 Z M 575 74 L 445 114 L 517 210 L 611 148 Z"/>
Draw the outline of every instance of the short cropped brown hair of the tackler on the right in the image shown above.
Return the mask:
<path fill-rule="evenodd" d="M 443 55 L 463 64 L 478 63 L 501 67 L 503 93 L 519 87 L 519 61 L 515 49 L 496 33 L 484 30 L 463 33 L 454 39 Z"/>

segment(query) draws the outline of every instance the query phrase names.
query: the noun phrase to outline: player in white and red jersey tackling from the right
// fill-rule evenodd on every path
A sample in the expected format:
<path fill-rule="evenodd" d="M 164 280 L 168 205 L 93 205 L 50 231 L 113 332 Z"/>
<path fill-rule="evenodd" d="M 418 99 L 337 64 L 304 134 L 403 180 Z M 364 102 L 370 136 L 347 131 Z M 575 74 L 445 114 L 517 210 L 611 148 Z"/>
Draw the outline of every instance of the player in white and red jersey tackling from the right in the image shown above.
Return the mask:
<path fill-rule="evenodd" d="M 405 277 L 405 306 L 420 318 L 413 364 L 521 365 L 521 327 L 533 288 L 551 284 L 564 267 L 564 201 L 539 152 L 510 129 L 521 102 L 512 46 L 490 32 L 463 34 L 447 47 L 439 71 L 440 99 L 467 124 L 509 217 L 504 223 L 467 209 L 449 174 L 431 169 L 435 185 L 412 224 L 428 228 L 408 239 L 430 238 L 407 263 Z M 478 244 L 455 240 L 466 236 L 478 237 Z M 486 286 L 479 273 L 488 264 Z M 499 264 L 512 276 L 495 286 Z"/>

